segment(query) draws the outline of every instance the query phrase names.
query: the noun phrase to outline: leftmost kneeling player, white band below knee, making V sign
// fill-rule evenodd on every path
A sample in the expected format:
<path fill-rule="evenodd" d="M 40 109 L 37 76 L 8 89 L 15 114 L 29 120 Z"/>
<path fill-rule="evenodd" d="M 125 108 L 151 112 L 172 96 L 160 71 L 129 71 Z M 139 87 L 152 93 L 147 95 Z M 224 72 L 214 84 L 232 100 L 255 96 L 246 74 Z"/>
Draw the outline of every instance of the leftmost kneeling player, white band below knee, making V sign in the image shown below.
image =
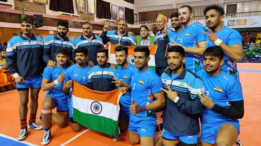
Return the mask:
<path fill-rule="evenodd" d="M 41 140 L 42 145 L 46 145 L 50 142 L 51 138 L 51 122 L 52 120 L 60 128 L 64 128 L 67 125 L 68 120 L 68 105 L 67 97 L 68 95 L 62 92 L 62 82 L 65 79 L 64 75 L 66 72 L 67 61 L 70 59 L 69 52 L 65 48 L 61 48 L 57 51 L 56 68 L 44 69 L 43 80 L 42 80 L 42 90 L 47 91 L 46 96 L 43 101 L 43 109 L 41 114 L 41 119 L 44 123 L 44 136 Z M 57 115 L 51 114 L 51 110 L 56 107 Z"/>

